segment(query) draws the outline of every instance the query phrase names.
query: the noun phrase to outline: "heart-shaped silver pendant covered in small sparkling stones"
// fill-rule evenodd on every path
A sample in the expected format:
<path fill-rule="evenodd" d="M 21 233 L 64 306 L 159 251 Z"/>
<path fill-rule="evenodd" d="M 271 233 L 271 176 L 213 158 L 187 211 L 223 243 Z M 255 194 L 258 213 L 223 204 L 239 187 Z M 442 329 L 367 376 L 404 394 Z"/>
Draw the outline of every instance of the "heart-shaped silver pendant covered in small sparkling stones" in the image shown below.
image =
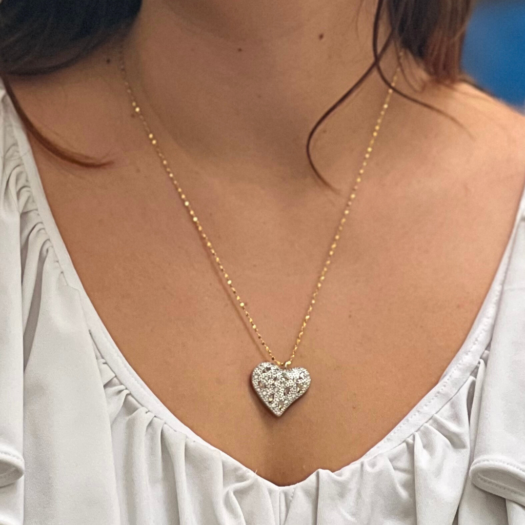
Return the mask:
<path fill-rule="evenodd" d="M 258 364 L 251 373 L 251 384 L 261 401 L 276 415 L 282 413 L 310 386 L 306 368 L 283 370 L 274 363 Z"/>

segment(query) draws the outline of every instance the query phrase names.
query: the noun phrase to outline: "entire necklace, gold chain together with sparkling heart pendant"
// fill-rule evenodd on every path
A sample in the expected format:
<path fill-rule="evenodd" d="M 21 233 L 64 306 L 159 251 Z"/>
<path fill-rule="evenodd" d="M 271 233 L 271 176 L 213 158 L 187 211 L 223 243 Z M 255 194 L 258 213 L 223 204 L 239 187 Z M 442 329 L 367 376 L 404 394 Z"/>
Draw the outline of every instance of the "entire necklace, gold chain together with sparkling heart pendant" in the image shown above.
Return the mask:
<path fill-rule="evenodd" d="M 314 288 L 314 291 L 312 293 L 312 298 L 310 300 L 310 304 L 306 311 L 306 316 L 304 317 L 302 321 L 301 329 L 297 336 L 296 342 L 293 345 L 292 353 L 290 357 L 288 358 L 288 360 L 284 362 L 281 362 L 275 358 L 269 346 L 266 344 L 265 340 L 262 338 L 262 335 L 259 333 L 257 325 L 255 324 L 255 321 L 253 320 L 253 318 L 251 317 L 250 313 L 248 312 L 246 308 L 246 303 L 243 301 L 243 299 L 240 298 L 239 293 L 237 292 L 237 289 L 233 285 L 232 278 L 229 276 L 229 274 L 224 269 L 222 261 L 217 255 L 217 251 L 215 250 L 212 244 L 212 241 L 209 239 L 209 237 L 204 232 L 203 226 L 201 222 L 199 221 L 197 215 L 195 214 L 195 211 L 193 209 L 193 206 L 190 202 L 189 197 L 184 193 L 181 185 L 176 180 L 175 175 L 164 153 L 162 152 L 157 142 L 157 139 L 155 138 L 155 135 L 151 131 L 151 128 L 149 127 L 148 122 L 144 118 L 144 115 L 140 109 L 140 106 L 137 100 L 135 99 L 135 95 L 133 93 L 133 90 L 131 89 L 131 86 L 128 80 L 128 75 L 127 75 L 127 71 L 125 68 L 125 62 L 124 62 L 124 49 L 123 49 L 122 43 L 120 46 L 120 70 L 122 74 L 122 79 L 124 81 L 124 86 L 125 86 L 126 91 L 128 92 L 128 96 L 129 96 L 134 114 L 139 117 L 142 123 L 142 126 L 144 128 L 144 131 L 146 132 L 146 135 L 148 136 L 148 139 L 151 145 L 153 146 L 156 154 L 158 155 L 161 161 L 162 167 L 164 168 L 164 171 L 166 172 L 167 176 L 170 177 L 171 182 L 175 186 L 175 190 L 177 191 L 178 196 L 181 198 L 181 201 L 184 207 L 186 208 L 188 216 L 190 217 L 192 223 L 194 224 L 198 235 L 201 237 L 201 240 L 203 241 L 205 246 L 208 248 L 208 251 L 210 255 L 213 257 L 213 260 L 216 262 L 217 267 L 220 273 L 222 274 L 222 277 L 225 279 L 226 284 L 228 285 L 229 289 L 232 291 L 237 301 L 237 304 L 239 305 L 239 308 L 243 310 L 246 316 L 246 319 L 250 323 L 251 328 L 254 330 L 255 334 L 257 335 L 257 339 L 259 340 L 260 344 L 264 346 L 266 352 L 268 353 L 270 361 L 262 362 L 255 367 L 254 371 L 251 373 L 251 384 L 253 385 L 255 392 L 259 396 L 260 400 L 270 409 L 270 411 L 276 416 L 281 416 L 283 412 L 285 412 L 285 410 L 294 401 L 296 401 L 299 397 L 301 397 L 308 390 L 308 387 L 310 386 L 311 378 L 310 378 L 309 372 L 304 368 L 290 367 L 290 365 L 292 364 L 292 361 L 296 357 L 296 352 L 297 352 L 297 349 L 299 348 L 299 344 L 301 343 L 301 338 L 304 333 L 304 329 L 306 328 L 308 320 L 310 319 L 310 315 L 313 310 L 313 306 L 316 303 L 316 298 L 319 294 L 319 290 L 321 289 L 323 285 L 324 278 L 332 262 L 332 257 L 335 253 L 335 249 L 337 248 L 338 241 L 341 237 L 341 232 L 343 231 L 343 227 L 346 222 L 346 216 L 350 213 L 350 208 L 352 207 L 352 203 L 356 196 L 356 191 L 358 190 L 359 183 L 361 182 L 361 176 L 364 174 L 365 167 L 368 164 L 370 154 L 372 153 L 372 150 L 374 147 L 375 139 L 381 128 L 381 123 L 383 122 L 383 118 L 388 108 L 388 104 L 390 103 L 390 99 L 392 97 L 392 92 L 393 92 L 392 87 L 395 86 L 400 68 L 398 67 L 394 74 L 394 77 L 391 82 L 392 87 L 388 88 L 383 106 L 381 108 L 379 117 L 376 120 L 374 130 L 372 132 L 372 138 L 370 139 L 369 145 L 366 148 L 366 152 L 364 154 L 364 159 L 363 159 L 363 162 L 361 163 L 361 167 L 359 169 L 358 176 L 355 178 L 355 183 L 352 186 L 352 190 L 348 197 L 348 201 L 346 202 L 344 206 L 343 215 L 341 219 L 339 220 L 339 225 L 337 226 L 335 235 L 330 243 L 330 249 L 328 250 L 328 256 L 326 260 L 324 261 L 323 269 L 316 283 L 316 287 Z"/>

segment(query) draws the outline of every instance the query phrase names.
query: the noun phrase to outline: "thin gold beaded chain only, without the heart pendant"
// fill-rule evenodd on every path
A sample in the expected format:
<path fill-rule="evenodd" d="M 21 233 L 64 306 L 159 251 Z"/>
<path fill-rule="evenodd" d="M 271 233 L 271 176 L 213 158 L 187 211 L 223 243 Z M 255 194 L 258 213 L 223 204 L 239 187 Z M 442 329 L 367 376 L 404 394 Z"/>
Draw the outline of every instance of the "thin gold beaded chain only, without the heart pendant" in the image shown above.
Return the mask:
<path fill-rule="evenodd" d="M 295 344 L 293 345 L 292 354 L 291 354 L 290 358 L 288 359 L 288 361 L 281 362 L 281 361 L 278 361 L 275 358 L 274 354 L 271 353 L 271 350 L 270 350 L 269 346 L 266 344 L 265 340 L 262 339 L 262 335 L 259 333 L 257 325 L 255 324 L 254 320 L 250 316 L 250 313 L 246 309 L 245 301 L 243 301 L 243 299 L 240 298 L 236 288 L 233 285 L 232 278 L 226 273 L 226 270 L 224 269 L 224 266 L 223 266 L 222 262 L 220 261 L 220 258 L 217 255 L 217 252 L 216 252 L 215 248 L 213 247 L 212 241 L 209 240 L 209 237 L 204 233 L 204 229 L 202 227 L 202 224 L 199 221 L 199 219 L 197 218 L 197 215 L 195 215 L 195 211 L 194 211 L 194 209 L 193 209 L 193 207 L 192 207 L 192 205 L 190 203 L 190 199 L 182 191 L 181 185 L 175 179 L 175 175 L 173 174 L 173 171 L 170 168 L 170 165 L 168 164 L 168 162 L 167 162 L 167 160 L 166 160 L 166 158 L 164 156 L 164 153 L 160 149 L 160 146 L 159 146 L 159 144 L 157 142 L 157 139 L 155 138 L 155 135 L 152 133 L 152 131 L 151 131 L 149 125 L 148 125 L 148 122 L 146 122 L 146 119 L 144 118 L 144 115 L 142 114 L 142 111 L 140 109 L 139 104 L 137 103 L 137 100 L 135 100 L 135 96 L 134 96 L 133 90 L 131 89 L 130 83 L 128 81 L 127 72 L 126 72 L 126 69 L 125 69 L 123 45 L 120 47 L 120 70 L 122 72 L 122 78 L 124 80 L 124 86 L 126 88 L 126 91 L 128 92 L 129 98 L 131 100 L 131 106 L 133 107 L 134 113 L 140 118 L 140 120 L 142 122 L 142 125 L 144 127 L 144 130 L 145 130 L 146 134 L 148 135 L 148 139 L 151 142 L 153 148 L 155 149 L 157 155 L 159 156 L 159 159 L 161 160 L 161 163 L 162 163 L 162 166 L 164 168 L 164 171 L 170 177 L 170 180 L 172 181 L 173 185 L 175 186 L 175 188 L 177 190 L 177 193 L 178 193 L 178 196 L 181 198 L 182 203 L 183 203 L 184 207 L 186 208 L 188 214 L 190 215 L 190 218 L 191 218 L 193 224 L 197 228 L 197 232 L 202 237 L 204 243 L 206 244 L 206 247 L 209 249 L 209 253 L 211 253 L 213 259 L 217 263 L 217 266 L 218 266 L 220 272 L 223 274 L 223 277 L 224 277 L 224 279 L 226 281 L 226 284 L 229 286 L 230 290 L 232 290 L 232 293 L 235 296 L 235 299 L 237 300 L 237 302 L 239 304 L 239 307 L 244 311 L 244 314 L 245 314 L 246 318 L 248 319 L 248 322 L 250 323 L 251 328 L 254 329 L 255 333 L 257 334 L 257 338 L 261 342 L 262 346 L 265 347 L 265 349 L 268 352 L 271 360 L 274 363 L 276 363 L 277 365 L 279 365 L 279 366 L 284 366 L 285 368 L 288 367 L 291 364 L 291 362 L 293 361 L 293 359 L 295 358 L 295 356 L 296 356 L 296 352 L 297 352 L 297 349 L 299 348 L 299 344 L 301 342 L 301 338 L 302 338 L 302 335 L 304 333 L 304 329 L 306 328 L 308 320 L 310 319 L 310 314 L 311 314 L 311 312 L 313 310 L 313 305 L 316 303 L 317 295 L 319 293 L 319 290 L 321 289 L 321 286 L 322 286 L 322 283 L 324 281 L 324 278 L 325 278 L 325 276 L 326 276 L 326 274 L 328 272 L 328 268 L 330 267 L 330 264 L 332 262 L 332 257 L 333 257 L 333 255 L 335 253 L 335 248 L 337 248 L 337 243 L 338 243 L 338 241 L 340 239 L 341 232 L 343 231 L 344 223 L 346 222 L 346 215 L 348 215 L 350 213 L 350 208 L 352 206 L 352 202 L 353 202 L 353 200 L 355 198 L 356 191 L 358 190 L 358 185 L 361 182 L 361 176 L 364 174 L 365 167 L 368 164 L 368 160 L 370 158 L 370 154 L 372 153 L 372 150 L 374 148 L 375 139 L 376 139 L 377 134 L 379 133 L 379 130 L 381 128 L 381 123 L 383 122 L 383 118 L 384 118 L 386 110 L 388 108 L 388 104 L 390 103 L 390 99 L 392 97 L 393 89 L 392 88 L 388 88 L 388 92 L 387 92 L 386 98 L 385 98 L 385 100 L 383 102 L 383 106 L 381 108 L 381 112 L 379 114 L 379 118 L 377 118 L 377 121 L 376 121 L 375 127 L 374 127 L 374 131 L 372 132 L 372 138 L 370 139 L 369 145 L 366 148 L 366 153 L 364 154 L 364 159 L 363 159 L 363 162 L 361 163 L 361 168 L 359 170 L 359 174 L 355 178 L 355 184 L 352 186 L 352 191 L 351 191 L 350 196 L 348 198 L 348 201 L 346 202 L 346 205 L 344 207 L 343 216 L 342 216 L 341 220 L 339 221 L 339 226 L 337 227 L 337 231 L 335 232 L 335 235 L 334 235 L 334 237 L 332 239 L 332 242 L 330 244 L 330 249 L 328 251 L 327 259 L 324 261 L 324 265 L 323 265 L 323 269 L 321 271 L 321 275 L 319 276 L 319 279 L 318 279 L 318 281 L 316 283 L 316 287 L 314 288 L 314 291 L 313 291 L 313 294 L 312 294 L 312 298 L 310 300 L 310 305 L 309 305 L 308 310 L 306 312 L 306 316 L 304 317 L 304 320 L 302 322 L 301 330 L 300 330 L 300 332 L 299 332 L 299 334 L 297 336 Z M 395 86 L 399 70 L 400 70 L 400 68 L 398 67 L 396 72 L 395 72 L 395 74 L 394 74 L 392 82 L 391 82 L 392 86 Z"/>

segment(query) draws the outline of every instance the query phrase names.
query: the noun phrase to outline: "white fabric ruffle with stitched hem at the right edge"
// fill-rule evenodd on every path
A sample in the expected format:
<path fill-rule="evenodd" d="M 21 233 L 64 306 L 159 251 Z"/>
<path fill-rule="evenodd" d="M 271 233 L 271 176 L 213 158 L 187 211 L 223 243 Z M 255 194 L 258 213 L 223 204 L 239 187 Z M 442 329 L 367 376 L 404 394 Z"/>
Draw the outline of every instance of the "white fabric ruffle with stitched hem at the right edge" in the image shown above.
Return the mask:
<path fill-rule="evenodd" d="M 525 506 L 525 222 L 518 225 L 492 335 L 472 482 Z M 516 511 L 517 512 L 517 511 Z M 525 510 L 521 508 L 525 523 Z"/>

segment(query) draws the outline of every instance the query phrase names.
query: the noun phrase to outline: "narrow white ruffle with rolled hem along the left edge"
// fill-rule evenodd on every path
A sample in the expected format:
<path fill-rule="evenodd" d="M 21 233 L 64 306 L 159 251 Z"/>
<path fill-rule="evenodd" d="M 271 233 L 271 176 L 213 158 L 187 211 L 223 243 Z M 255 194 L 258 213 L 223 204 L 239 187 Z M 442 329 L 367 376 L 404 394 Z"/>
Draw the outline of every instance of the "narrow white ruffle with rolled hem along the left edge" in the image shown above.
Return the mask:
<path fill-rule="evenodd" d="M 5 92 L 0 88 L 0 102 Z M 14 172 L 22 169 L 0 104 L 0 523 L 22 513 L 24 329 L 20 213 Z"/>

